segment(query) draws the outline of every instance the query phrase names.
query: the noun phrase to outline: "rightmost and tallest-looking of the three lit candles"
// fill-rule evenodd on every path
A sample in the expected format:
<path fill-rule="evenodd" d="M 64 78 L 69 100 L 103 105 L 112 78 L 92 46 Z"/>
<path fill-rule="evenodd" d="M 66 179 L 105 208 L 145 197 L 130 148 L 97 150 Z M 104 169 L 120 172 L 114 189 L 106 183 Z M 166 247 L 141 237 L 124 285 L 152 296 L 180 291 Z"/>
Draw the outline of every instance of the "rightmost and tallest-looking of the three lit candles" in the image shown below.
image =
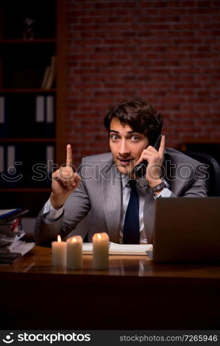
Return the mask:
<path fill-rule="evenodd" d="M 109 268 L 109 235 L 95 233 L 93 235 L 93 268 Z"/>

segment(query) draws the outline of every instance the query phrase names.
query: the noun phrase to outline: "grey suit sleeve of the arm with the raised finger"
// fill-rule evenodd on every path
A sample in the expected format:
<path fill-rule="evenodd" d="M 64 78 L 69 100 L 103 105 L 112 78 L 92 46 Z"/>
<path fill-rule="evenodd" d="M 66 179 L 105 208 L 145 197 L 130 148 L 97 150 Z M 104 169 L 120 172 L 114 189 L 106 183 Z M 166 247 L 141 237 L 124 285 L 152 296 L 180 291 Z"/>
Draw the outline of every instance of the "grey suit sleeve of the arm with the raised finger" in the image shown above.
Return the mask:
<path fill-rule="evenodd" d="M 84 176 L 84 159 L 80 165 L 81 170 L 79 174 Z M 62 239 L 73 232 L 77 224 L 87 215 L 91 208 L 89 196 L 86 190 L 86 185 L 82 179 L 79 187 L 72 192 L 66 202 L 64 203 L 64 212 L 59 219 L 48 223 L 44 221 L 44 208 L 39 212 L 35 223 L 35 242 L 37 245 L 48 245 L 57 239 L 60 235 Z M 87 230 L 82 231 L 82 237 L 87 233 Z M 78 233 L 77 233 L 78 234 Z M 79 234 L 78 234 L 79 235 Z"/>

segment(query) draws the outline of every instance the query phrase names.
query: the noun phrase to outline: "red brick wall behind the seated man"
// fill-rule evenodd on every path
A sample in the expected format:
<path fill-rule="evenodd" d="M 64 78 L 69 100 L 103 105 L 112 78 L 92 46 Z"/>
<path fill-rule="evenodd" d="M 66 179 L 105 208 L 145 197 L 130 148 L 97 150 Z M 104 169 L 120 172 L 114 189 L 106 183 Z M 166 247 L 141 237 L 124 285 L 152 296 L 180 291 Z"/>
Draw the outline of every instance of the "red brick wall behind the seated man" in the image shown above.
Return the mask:
<path fill-rule="evenodd" d="M 163 113 L 167 146 L 220 140 L 220 1 L 66 1 L 76 163 L 108 150 L 104 113 L 134 98 Z"/>

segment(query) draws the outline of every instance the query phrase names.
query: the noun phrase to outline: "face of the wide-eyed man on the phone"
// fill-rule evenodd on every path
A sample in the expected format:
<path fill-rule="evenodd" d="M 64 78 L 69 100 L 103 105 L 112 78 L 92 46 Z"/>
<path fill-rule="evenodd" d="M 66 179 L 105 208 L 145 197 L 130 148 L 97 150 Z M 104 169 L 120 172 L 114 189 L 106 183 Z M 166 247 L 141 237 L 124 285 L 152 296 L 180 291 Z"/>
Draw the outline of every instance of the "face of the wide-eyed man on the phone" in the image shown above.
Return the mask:
<path fill-rule="evenodd" d="M 149 140 L 144 134 L 135 132 L 129 125 L 122 125 L 117 118 L 111 120 L 109 135 L 113 161 L 120 173 L 129 175 L 140 154 L 149 145 Z"/>

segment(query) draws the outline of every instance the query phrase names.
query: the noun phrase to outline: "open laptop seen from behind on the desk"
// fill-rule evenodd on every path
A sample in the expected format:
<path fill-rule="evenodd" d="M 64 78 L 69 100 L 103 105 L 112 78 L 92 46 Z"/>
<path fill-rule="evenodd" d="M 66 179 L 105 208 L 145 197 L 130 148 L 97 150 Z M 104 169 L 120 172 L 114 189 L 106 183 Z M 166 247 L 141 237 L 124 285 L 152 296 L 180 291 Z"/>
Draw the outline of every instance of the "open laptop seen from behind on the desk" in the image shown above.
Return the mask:
<path fill-rule="evenodd" d="M 220 197 L 156 199 L 154 262 L 220 260 Z"/>

